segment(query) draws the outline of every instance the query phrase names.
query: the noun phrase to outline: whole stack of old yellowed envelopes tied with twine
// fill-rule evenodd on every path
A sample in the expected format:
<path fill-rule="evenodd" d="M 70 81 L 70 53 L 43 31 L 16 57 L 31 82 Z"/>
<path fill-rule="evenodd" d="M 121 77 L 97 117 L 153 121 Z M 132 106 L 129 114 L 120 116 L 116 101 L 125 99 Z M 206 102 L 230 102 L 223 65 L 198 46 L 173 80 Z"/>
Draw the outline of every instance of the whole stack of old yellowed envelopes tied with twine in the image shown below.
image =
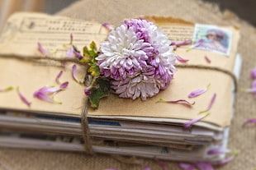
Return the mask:
<path fill-rule="evenodd" d="M 236 54 L 239 30 L 196 25 L 171 17 L 145 18 L 159 25 L 173 42 L 205 39 L 205 44 L 179 47 L 177 43 L 175 53 L 189 61 L 177 61 L 178 71 L 171 85 L 154 97 L 142 101 L 111 94 L 100 101 L 97 109 L 88 107 L 92 149 L 98 153 L 183 161 L 214 163 L 223 159 L 224 153 L 208 153 L 211 149 L 227 148 L 235 99 L 232 73 L 239 75 L 241 62 Z M 1 147 L 84 150 L 81 113 L 88 97 L 83 93 L 84 86 L 73 80 L 74 63 L 31 61 L 29 57 L 42 57 L 38 42 L 51 57 L 61 58 L 69 49 L 69 34 L 73 34 L 76 48 L 82 50 L 91 41 L 99 47 L 108 32 L 97 22 L 38 13 L 17 13 L 7 21 L 0 37 Z M 211 41 L 212 36 L 218 38 L 219 44 Z M 187 65 L 199 67 L 184 67 Z M 78 77 L 84 76 L 86 69 L 77 67 Z M 69 82 L 67 90 L 55 95 L 61 104 L 34 98 L 33 93 L 41 87 L 58 86 L 55 77 L 59 71 L 63 71 L 59 80 Z M 7 90 L 10 86 L 14 90 Z M 206 93 L 197 98 L 187 97 L 201 88 L 206 88 Z M 22 102 L 18 93 L 26 96 L 31 104 Z M 211 103 L 212 96 L 215 96 L 214 103 Z M 164 103 L 159 99 L 183 99 L 194 104 Z M 201 112 L 204 110 L 207 112 Z M 207 117 L 184 128 L 185 122 L 206 113 Z"/>

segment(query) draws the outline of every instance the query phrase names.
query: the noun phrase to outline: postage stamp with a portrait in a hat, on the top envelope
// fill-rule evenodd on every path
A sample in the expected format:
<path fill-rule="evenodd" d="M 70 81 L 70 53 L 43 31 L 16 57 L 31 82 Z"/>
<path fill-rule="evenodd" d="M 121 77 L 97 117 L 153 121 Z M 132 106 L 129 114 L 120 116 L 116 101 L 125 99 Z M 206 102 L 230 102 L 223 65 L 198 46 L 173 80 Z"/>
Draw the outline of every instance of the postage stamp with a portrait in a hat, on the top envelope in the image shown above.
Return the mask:
<path fill-rule="evenodd" d="M 195 43 L 192 46 L 197 49 L 229 55 L 231 39 L 231 30 L 223 29 L 216 25 L 197 24 L 192 39 Z"/>

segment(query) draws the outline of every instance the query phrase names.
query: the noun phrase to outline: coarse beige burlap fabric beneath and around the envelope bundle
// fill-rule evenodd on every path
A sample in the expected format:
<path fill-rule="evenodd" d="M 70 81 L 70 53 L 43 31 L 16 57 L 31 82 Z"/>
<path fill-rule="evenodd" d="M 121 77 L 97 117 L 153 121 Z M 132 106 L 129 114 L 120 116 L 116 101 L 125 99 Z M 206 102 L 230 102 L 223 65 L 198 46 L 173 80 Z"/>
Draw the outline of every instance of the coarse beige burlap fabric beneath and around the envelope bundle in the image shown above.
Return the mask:
<path fill-rule="evenodd" d="M 80 1 L 60 11 L 57 15 L 70 16 L 83 20 L 95 20 L 118 25 L 124 18 L 138 15 L 175 16 L 187 21 L 213 25 L 235 25 L 241 30 L 239 53 L 243 56 L 243 66 L 239 79 L 239 88 L 251 84 L 249 71 L 256 64 L 256 30 L 252 25 L 239 20 L 230 11 L 220 11 L 218 7 L 201 0 L 131 0 L 131 1 Z M 230 149 L 239 149 L 235 160 L 217 169 L 243 170 L 256 168 L 255 131 L 256 126 L 242 127 L 245 120 L 256 117 L 256 100 L 250 94 L 237 93 L 235 119 L 230 131 Z M 92 169 L 106 168 L 161 169 L 154 160 L 139 159 L 141 165 L 119 163 L 110 155 L 97 154 L 92 157 L 82 153 L 41 151 L 29 149 L 0 149 L 0 169 Z M 179 169 L 177 163 L 165 162 L 168 169 Z M 5 168 L 4 168 L 5 167 Z"/>

